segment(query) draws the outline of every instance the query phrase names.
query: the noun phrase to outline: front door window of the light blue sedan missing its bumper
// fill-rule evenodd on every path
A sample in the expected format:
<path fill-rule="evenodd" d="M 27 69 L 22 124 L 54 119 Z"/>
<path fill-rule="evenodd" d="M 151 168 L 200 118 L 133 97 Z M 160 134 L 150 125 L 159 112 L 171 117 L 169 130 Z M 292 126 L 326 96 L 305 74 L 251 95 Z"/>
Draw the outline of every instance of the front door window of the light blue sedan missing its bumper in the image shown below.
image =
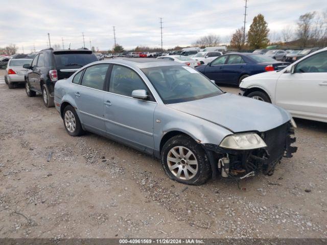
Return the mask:
<path fill-rule="evenodd" d="M 131 97 L 132 91 L 136 89 L 148 91 L 147 86 L 134 70 L 120 65 L 113 65 L 109 92 Z"/>

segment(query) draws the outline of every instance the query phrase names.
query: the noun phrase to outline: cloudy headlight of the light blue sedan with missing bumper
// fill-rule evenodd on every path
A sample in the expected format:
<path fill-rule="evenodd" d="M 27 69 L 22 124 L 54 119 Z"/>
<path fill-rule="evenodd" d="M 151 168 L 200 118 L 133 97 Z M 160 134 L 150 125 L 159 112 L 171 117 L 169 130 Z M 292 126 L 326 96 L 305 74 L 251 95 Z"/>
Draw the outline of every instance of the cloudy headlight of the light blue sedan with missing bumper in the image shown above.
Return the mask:
<path fill-rule="evenodd" d="M 243 133 L 225 137 L 219 146 L 233 150 L 250 150 L 266 147 L 267 144 L 258 134 Z"/>

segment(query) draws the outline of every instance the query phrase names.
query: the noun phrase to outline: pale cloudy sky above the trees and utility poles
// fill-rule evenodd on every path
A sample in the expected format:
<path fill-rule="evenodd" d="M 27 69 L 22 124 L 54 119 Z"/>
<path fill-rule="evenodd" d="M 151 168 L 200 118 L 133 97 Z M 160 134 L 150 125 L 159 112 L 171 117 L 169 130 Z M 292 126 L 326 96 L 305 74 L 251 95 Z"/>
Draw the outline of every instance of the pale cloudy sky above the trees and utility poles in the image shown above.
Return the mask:
<path fill-rule="evenodd" d="M 245 0 L 0 0 L 0 47 L 11 43 L 30 53 L 48 44 L 64 48 L 95 46 L 111 50 L 116 42 L 125 49 L 137 45 L 160 47 L 160 17 L 164 48 L 187 46 L 199 37 L 219 35 L 229 42 L 243 26 Z M 326 0 L 249 0 L 246 30 L 255 15 L 265 16 L 271 33 L 295 30 L 301 14 L 327 9 Z"/>

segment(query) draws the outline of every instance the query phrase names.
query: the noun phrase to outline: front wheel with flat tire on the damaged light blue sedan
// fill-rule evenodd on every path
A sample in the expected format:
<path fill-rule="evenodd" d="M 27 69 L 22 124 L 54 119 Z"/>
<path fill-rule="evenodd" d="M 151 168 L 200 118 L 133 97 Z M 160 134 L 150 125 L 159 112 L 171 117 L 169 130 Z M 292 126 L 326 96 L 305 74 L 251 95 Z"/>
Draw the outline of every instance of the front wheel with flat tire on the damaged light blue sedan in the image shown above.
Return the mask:
<path fill-rule="evenodd" d="M 169 178 L 183 184 L 204 184 L 212 174 L 211 165 L 201 145 L 182 134 L 165 143 L 160 162 Z"/>

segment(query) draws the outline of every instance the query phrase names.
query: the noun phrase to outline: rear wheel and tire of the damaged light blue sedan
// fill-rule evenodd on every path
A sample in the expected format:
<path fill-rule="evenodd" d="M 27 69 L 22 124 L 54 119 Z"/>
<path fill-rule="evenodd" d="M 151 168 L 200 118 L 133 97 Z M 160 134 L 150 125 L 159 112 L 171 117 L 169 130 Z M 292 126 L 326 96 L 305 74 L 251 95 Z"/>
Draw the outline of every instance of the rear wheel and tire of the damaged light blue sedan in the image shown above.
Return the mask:
<path fill-rule="evenodd" d="M 66 132 L 69 135 L 81 136 L 82 134 L 84 134 L 80 118 L 78 117 L 75 109 L 71 105 L 68 105 L 63 109 L 62 120 Z"/>

